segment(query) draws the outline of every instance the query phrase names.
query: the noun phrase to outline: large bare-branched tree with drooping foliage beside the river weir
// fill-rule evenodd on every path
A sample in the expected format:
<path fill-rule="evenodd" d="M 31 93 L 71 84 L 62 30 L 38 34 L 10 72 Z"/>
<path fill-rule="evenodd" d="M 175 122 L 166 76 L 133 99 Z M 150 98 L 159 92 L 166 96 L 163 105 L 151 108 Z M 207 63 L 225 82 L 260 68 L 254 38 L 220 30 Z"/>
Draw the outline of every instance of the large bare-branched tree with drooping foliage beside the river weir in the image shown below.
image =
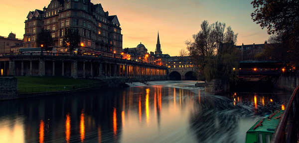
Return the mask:
<path fill-rule="evenodd" d="M 200 65 L 200 71 L 203 71 L 201 79 L 209 81 L 230 78 L 237 74 L 233 68 L 238 69 L 238 51 L 235 47 L 238 34 L 235 34 L 230 26 L 224 31 L 225 23 L 217 21 L 209 24 L 204 20 L 201 30 L 192 36 L 193 41 L 185 42 L 189 55 Z"/>

